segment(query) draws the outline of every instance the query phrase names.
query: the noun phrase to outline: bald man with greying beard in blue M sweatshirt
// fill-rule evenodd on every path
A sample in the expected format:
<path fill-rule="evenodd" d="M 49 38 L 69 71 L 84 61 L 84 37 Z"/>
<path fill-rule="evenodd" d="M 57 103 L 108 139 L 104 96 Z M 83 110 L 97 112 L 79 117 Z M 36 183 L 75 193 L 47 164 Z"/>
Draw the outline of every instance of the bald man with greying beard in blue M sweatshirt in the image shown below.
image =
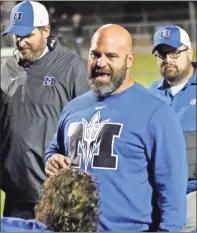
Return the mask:
<path fill-rule="evenodd" d="M 71 166 L 97 177 L 99 231 L 181 231 L 188 175 L 183 133 L 172 109 L 132 80 L 133 61 L 125 28 L 109 24 L 95 32 L 91 90 L 63 109 L 45 171 L 51 176 Z"/>

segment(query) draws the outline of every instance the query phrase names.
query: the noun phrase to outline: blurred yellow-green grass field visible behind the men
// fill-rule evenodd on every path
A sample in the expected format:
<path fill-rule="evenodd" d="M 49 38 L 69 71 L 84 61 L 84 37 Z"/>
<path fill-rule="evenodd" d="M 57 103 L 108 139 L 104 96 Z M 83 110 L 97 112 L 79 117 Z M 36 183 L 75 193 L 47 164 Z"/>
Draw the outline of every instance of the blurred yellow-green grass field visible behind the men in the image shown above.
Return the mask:
<path fill-rule="evenodd" d="M 194 60 L 196 61 L 196 51 L 194 52 Z M 160 78 L 157 71 L 156 60 L 154 55 L 136 55 L 133 67 L 132 77 L 136 82 L 148 87 L 153 81 Z M 1 214 L 3 211 L 4 193 L 1 192 Z"/>

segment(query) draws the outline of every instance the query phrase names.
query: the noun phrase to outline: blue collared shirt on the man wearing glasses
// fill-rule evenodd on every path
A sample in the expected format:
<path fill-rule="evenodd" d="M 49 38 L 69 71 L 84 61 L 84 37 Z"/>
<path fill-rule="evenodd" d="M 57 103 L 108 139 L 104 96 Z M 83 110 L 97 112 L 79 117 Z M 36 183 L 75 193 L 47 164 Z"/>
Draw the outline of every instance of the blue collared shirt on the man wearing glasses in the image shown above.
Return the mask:
<path fill-rule="evenodd" d="M 170 87 L 164 78 L 154 82 L 150 86 L 150 91 L 169 104 L 179 120 L 182 130 L 188 142 L 188 164 L 189 164 L 189 181 L 187 193 L 196 191 L 197 181 L 194 177 L 196 170 L 196 62 L 192 63 L 194 73 L 189 81 L 175 96 L 171 94 Z M 190 138 L 188 138 L 190 136 Z M 192 139 L 192 137 L 194 139 Z M 191 140 L 192 139 L 192 140 Z M 193 141 L 193 143 L 192 143 Z"/>

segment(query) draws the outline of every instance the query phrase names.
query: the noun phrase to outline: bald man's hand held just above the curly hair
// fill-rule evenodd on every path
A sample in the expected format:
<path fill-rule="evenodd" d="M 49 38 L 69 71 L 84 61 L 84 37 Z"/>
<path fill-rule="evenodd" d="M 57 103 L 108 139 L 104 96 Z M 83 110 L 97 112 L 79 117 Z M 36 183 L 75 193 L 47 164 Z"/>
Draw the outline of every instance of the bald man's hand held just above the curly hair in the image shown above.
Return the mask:
<path fill-rule="evenodd" d="M 45 173 L 47 176 L 52 176 L 55 175 L 61 168 L 68 169 L 70 165 L 70 158 L 61 154 L 53 154 L 47 161 Z"/>

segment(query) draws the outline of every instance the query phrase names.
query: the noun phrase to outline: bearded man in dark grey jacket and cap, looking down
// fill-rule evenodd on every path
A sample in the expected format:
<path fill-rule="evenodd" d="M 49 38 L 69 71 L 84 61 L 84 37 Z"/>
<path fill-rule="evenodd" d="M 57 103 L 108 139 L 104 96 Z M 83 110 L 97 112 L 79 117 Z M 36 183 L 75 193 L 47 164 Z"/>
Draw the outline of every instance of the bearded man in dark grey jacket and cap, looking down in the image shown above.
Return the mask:
<path fill-rule="evenodd" d="M 1 186 L 4 216 L 33 218 L 46 179 L 42 156 L 63 106 L 88 90 L 84 61 L 50 36 L 46 8 L 23 1 L 11 12 L 16 51 L 1 65 Z"/>

